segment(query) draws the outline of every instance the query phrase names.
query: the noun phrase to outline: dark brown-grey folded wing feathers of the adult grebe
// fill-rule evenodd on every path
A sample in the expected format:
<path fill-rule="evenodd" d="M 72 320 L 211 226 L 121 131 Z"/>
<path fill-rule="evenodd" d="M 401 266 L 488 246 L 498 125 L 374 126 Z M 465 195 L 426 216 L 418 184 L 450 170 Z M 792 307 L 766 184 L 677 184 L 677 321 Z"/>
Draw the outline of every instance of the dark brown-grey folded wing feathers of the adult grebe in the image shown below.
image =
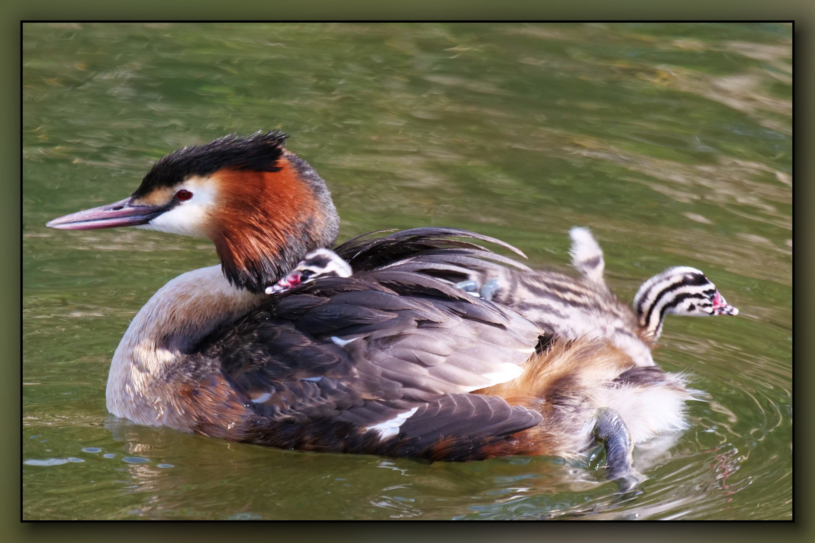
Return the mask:
<path fill-rule="evenodd" d="M 272 296 L 196 349 L 196 356 L 221 362 L 258 415 L 246 440 L 471 459 L 478 443 L 540 422 L 540 414 L 499 397 L 467 393 L 521 374 L 540 331 L 517 313 L 417 273 L 460 274 L 485 258 L 510 260 L 446 236 L 509 247 L 438 228 L 351 240 L 337 252 L 354 276 L 319 278 Z M 301 425 L 307 440 L 291 424 Z M 337 436 L 348 431 L 355 437 L 341 444 Z M 433 449 L 438 440 L 446 452 Z"/>

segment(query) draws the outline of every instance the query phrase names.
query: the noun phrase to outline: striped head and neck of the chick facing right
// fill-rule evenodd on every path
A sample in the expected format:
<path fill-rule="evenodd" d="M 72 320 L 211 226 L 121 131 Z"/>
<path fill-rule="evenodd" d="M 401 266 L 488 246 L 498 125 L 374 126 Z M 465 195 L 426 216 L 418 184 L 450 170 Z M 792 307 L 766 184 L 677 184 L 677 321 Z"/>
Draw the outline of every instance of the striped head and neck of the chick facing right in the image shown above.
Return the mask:
<path fill-rule="evenodd" d="M 725 301 L 705 274 L 686 266 L 668 268 L 642 283 L 634 296 L 634 311 L 643 331 L 654 339 L 662 331 L 666 313 L 691 317 L 738 315 L 738 309 Z"/>

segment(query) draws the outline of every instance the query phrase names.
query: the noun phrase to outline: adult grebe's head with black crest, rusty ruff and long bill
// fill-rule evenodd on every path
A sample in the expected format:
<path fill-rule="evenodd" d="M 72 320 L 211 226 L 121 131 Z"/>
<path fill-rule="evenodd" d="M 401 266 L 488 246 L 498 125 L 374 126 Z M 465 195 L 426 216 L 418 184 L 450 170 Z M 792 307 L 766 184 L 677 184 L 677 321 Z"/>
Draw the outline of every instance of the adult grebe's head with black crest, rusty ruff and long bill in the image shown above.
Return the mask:
<path fill-rule="evenodd" d="M 223 273 L 253 292 L 334 243 L 339 217 L 324 181 L 283 147 L 281 132 L 236 135 L 184 147 L 156 162 L 130 198 L 72 213 L 46 226 L 136 226 L 208 237 Z"/>

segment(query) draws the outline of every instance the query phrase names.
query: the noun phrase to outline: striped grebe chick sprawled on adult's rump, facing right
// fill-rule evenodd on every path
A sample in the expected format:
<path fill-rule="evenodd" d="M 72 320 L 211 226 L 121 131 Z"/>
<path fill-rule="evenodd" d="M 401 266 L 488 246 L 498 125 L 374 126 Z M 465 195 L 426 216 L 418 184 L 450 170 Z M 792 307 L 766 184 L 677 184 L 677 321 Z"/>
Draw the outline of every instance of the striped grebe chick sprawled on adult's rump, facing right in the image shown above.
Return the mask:
<path fill-rule="evenodd" d="M 703 272 L 687 266 L 654 275 L 642 284 L 632 306 L 624 304 L 606 286 L 603 252 L 591 232 L 575 226 L 570 236 L 572 265 L 579 277 L 491 268 L 482 270 L 478 279 L 463 282 L 471 289 L 479 284 L 482 291 L 489 287 L 489 299 L 540 326 L 544 334 L 539 352 L 553 339 L 590 335 L 607 339 L 637 366 L 653 366 L 650 351 L 667 313 L 690 317 L 738 314 Z"/>

